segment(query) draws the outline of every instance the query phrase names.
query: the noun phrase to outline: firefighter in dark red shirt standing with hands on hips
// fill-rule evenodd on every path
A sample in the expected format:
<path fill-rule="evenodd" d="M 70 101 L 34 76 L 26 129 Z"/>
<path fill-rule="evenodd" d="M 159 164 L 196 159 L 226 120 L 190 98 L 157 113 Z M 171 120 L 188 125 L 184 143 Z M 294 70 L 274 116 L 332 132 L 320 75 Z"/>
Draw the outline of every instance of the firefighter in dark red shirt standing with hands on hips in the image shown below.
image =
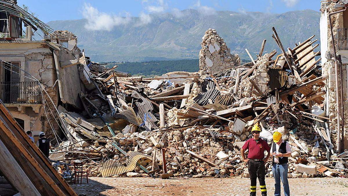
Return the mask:
<path fill-rule="evenodd" d="M 264 164 L 270 156 L 271 147 L 266 141 L 260 138 L 261 129 L 258 125 L 254 125 L 251 130 L 252 138 L 247 140 L 240 150 L 242 159 L 248 163 L 248 171 L 250 175 L 250 195 L 256 195 L 256 178 L 259 178 L 262 196 L 267 195 L 266 182 L 264 176 L 266 174 Z M 244 151 L 249 149 L 248 158 L 245 158 Z M 267 151 L 267 157 L 264 158 L 264 151 Z"/>

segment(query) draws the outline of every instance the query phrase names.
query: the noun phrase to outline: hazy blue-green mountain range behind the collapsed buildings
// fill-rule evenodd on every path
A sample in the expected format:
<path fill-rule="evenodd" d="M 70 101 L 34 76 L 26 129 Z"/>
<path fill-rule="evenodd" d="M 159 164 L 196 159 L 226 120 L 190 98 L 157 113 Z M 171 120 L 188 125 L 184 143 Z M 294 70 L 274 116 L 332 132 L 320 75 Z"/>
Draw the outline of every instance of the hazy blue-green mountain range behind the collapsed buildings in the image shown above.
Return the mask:
<path fill-rule="evenodd" d="M 133 17 L 127 23 L 115 26 L 111 31 L 88 30 L 86 19 L 50 21 L 54 30 L 68 30 L 78 37 L 78 46 L 96 62 L 150 61 L 198 59 L 201 41 L 207 29 L 216 29 L 231 53 L 249 59 L 245 48 L 256 54 L 263 39 L 265 52 L 279 47 L 272 39 L 272 27 L 285 48 L 312 35 L 320 40 L 320 13 L 314 10 L 298 10 L 283 14 L 260 12 L 217 11 L 214 15 L 202 15 L 195 9 L 181 11 L 177 18 L 171 13 L 151 15 L 151 22 L 139 24 Z"/>

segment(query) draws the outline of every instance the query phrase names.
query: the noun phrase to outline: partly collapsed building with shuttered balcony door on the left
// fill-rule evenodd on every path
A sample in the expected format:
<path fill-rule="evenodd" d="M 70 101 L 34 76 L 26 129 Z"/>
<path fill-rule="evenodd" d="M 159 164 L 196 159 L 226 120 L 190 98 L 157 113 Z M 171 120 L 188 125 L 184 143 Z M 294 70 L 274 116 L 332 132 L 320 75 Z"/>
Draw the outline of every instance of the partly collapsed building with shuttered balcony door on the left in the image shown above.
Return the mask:
<path fill-rule="evenodd" d="M 78 93 L 83 85 L 80 85 L 78 66 L 70 61 L 78 59 L 81 51 L 72 33 L 53 33 L 38 19 L 25 17 L 25 11 L 16 4 L 1 1 L 0 7 L 3 19 L 0 36 L 4 38 L 0 41 L 1 100 L 19 125 L 25 131 L 32 131 L 37 140 L 41 131 L 51 135 L 53 129 L 61 130 L 53 112 L 58 103 L 81 107 Z M 22 26 L 25 36 L 22 36 Z M 33 40 L 33 31 L 38 29 L 56 36 Z M 64 47 L 63 42 L 68 47 Z"/>

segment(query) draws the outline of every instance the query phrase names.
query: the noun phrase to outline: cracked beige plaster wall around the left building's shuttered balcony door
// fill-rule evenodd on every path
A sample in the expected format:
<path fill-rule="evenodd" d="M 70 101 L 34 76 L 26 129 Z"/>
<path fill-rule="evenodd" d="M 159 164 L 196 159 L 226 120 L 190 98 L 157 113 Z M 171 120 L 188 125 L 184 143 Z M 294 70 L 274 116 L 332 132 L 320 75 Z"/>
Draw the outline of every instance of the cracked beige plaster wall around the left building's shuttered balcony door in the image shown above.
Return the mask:
<path fill-rule="evenodd" d="M 0 48 L 0 59 L 7 62 L 20 61 L 21 69 L 24 69 L 25 72 L 40 81 L 49 96 L 52 98 L 53 103 L 57 106 L 58 85 L 56 85 L 55 88 L 52 88 L 57 80 L 52 49 L 42 42 L 1 44 Z M 24 71 L 20 71 L 21 75 L 19 76 L 19 80 L 21 82 L 34 82 L 33 80 L 24 77 L 29 77 L 28 74 L 24 73 Z M 45 95 L 45 93 L 42 92 L 42 95 Z M 46 95 L 45 97 L 49 100 Z M 50 105 L 52 112 L 55 113 L 52 103 L 48 101 L 48 104 Z M 33 111 L 31 106 L 20 106 L 21 105 L 19 104 L 17 106 L 12 104 L 8 109 L 11 112 L 20 112 L 28 115 L 30 117 L 30 130 L 34 131 L 34 134 L 40 131 L 46 132 L 48 136 L 53 134 L 48 122 L 52 123 L 55 130 L 59 130 L 59 126 L 55 122 L 52 114 L 49 114 L 50 112 L 47 113 L 48 118 L 46 117 L 42 104 L 37 112 Z"/>

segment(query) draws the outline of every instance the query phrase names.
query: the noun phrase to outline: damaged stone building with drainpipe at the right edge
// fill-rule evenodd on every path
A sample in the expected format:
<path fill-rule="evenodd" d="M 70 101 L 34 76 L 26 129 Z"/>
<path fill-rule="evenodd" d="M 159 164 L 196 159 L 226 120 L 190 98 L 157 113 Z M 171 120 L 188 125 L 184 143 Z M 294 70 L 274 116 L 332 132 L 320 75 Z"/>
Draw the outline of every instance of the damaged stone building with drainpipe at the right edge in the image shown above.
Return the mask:
<path fill-rule="evenodd" d="M 341 151 L 348 148 L 348 1 L 321 3 L 320 38 L 325 81 L 325 113 L 331 138 Z M 339 139 L 338 139 L 339 137 Z"/>

